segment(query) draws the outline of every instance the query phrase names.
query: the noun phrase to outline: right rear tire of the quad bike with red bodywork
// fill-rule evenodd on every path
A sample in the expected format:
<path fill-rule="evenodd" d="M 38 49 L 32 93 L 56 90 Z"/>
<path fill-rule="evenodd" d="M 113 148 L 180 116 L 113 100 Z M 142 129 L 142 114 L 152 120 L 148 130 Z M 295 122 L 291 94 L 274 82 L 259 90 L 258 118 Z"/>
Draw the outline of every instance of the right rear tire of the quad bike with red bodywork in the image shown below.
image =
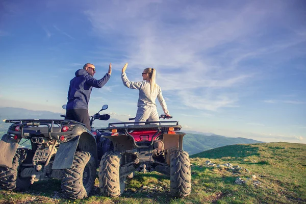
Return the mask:
<path fill-rule="evenodd" d="M 191 192 L 191 169 L 186 151 L 175 150 L 170 156 L 171 195 L 186 197 Z"/>

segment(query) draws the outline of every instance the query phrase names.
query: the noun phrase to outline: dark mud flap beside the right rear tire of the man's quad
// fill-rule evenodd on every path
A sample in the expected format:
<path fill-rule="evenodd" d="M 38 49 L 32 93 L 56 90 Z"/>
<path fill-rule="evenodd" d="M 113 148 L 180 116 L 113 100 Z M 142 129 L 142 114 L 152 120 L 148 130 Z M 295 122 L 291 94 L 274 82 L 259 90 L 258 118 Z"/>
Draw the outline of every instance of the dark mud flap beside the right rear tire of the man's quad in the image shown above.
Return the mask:
<path fill-rule="evenodd" d="M 69 142 L 60 144 L 56 152 L 52 169 L 70 169 L 72 167 L 75 150 L 77 149 L 80 136 L 77 136 Z"/>

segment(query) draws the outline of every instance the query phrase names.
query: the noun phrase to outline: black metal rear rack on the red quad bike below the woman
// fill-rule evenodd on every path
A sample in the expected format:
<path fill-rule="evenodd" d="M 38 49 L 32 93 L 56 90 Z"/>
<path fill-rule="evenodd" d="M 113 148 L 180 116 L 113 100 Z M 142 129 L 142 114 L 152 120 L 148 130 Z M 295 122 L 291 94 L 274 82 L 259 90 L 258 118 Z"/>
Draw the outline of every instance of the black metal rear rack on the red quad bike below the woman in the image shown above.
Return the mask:
<path fill-rule="evenodd" d="M 143 124 L 149 123 L 149 124 Z M 152 124 L 153 123 L 153 124 Z M 172 124 L 171 124 L 172 123 Z M 125 130 L 161 130 L 168 131 L 169 127 L 173 127 L 174 131 L 180 131 L 182 126 L 179 121 L 147 121 L 147 122 L 113 122 L 109 123 L 106 130 L 117 129 L 118 132 Z"/>

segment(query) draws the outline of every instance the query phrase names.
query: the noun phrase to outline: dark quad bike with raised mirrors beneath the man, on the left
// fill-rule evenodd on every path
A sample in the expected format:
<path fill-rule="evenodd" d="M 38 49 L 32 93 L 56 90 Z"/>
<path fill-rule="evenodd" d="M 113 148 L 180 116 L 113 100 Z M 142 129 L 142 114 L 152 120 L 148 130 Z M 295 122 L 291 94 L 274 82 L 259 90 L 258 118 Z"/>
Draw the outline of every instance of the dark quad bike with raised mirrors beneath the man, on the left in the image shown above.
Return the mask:
<path fill-rule="evenodd" d="M 105 105 L 100 110 L 107 109 Z M 100 112 L 99 111 L 99 112 Z M 99 113 L 94 119 L 108 120 Z M 69 198 L 90 193 L 101 156 L 94 134 L 74 120 L 13 119 L 0 141 L 0 188 L 25 190 L 37 181 L 59 179 Z M 18 148 L 21 139 L 31 141 L 31 149 Z"/>

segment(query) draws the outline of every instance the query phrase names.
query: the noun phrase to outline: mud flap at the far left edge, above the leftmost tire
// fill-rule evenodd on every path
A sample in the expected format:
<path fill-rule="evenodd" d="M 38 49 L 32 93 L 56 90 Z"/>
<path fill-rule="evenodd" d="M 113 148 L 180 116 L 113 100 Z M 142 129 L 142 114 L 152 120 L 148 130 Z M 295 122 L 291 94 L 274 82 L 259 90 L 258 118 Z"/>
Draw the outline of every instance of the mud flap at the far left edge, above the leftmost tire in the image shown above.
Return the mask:
<path fill-rule="evenodd" d="M 19 144 L 11 138 L 10 135 L 5 134 L 0 141 L 0 166 L 12 168 L 13 158 L 16 154 Z"/>

